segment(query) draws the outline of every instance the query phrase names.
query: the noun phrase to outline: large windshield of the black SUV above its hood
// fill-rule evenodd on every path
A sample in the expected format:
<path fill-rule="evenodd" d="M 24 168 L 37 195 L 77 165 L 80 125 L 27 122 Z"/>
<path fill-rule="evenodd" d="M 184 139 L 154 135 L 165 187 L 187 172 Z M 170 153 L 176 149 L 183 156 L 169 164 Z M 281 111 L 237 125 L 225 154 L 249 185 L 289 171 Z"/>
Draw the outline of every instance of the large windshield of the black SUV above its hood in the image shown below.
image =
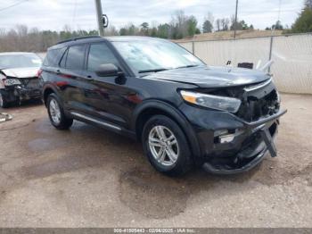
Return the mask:
<path fill-rule="evenodd" d="M 118 41 L 112 44 L 138 73 L 205 65 L 183 47 L 165 40 Z"/>

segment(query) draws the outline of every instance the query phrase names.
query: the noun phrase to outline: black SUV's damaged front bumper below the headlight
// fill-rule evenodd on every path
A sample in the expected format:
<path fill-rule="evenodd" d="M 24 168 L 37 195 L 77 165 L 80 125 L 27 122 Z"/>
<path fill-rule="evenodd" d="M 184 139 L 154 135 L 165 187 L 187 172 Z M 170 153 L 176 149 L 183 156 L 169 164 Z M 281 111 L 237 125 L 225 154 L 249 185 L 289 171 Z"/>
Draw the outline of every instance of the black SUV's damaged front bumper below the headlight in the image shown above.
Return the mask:
<path fill-rule="evenodd" d="M 193 125 L 201 148 L 201 156 L 196 160 L 203 163 L 206 171 L 215 174 L 249 171 L 265 158 L 268 151 L 272 156 L 276 155 L 273 139 L 279 118 L 286 111 L 248 122 L 232 113 L 199 109 L 188 104 L 182 104 L 180 109 Z M 237 131 L 239 134 L 229 142 L 220 143 L 215 135 L 220 130 Z"/>

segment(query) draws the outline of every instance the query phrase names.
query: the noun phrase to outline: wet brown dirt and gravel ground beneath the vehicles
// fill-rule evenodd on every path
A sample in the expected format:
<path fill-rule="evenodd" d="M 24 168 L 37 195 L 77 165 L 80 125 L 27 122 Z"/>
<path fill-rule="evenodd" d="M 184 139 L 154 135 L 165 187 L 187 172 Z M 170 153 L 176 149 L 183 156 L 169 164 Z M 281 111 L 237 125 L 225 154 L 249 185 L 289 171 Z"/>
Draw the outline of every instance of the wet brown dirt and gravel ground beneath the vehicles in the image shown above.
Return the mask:
<path fill-rule="evenodd" d="M 43 105 L 5 110 L 0 227 L 312 227 L 312 96 L 282 98 L 279 156 L 234 177 L 168 178 L 127 138 L 54 130 Z"/>

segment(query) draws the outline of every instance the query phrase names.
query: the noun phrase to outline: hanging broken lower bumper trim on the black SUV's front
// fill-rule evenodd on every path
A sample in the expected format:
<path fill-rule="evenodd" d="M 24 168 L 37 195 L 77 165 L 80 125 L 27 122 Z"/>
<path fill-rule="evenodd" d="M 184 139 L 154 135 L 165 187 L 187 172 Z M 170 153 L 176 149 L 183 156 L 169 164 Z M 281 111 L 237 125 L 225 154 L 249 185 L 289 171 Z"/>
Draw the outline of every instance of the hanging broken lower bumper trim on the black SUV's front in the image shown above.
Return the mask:
<path fill-rule="evenodd" d="M 286 111 L 276 113 L 266 120 L 246 123 L 250 138 L 235 156 L 214 157 L 203 164 L 205 171 L 213 174 L 236 174 L 257 166 L 266 157 L 267 152 L 272 157 L 277 155 L 274 138 L 277 133 L 278 118 Z"/>

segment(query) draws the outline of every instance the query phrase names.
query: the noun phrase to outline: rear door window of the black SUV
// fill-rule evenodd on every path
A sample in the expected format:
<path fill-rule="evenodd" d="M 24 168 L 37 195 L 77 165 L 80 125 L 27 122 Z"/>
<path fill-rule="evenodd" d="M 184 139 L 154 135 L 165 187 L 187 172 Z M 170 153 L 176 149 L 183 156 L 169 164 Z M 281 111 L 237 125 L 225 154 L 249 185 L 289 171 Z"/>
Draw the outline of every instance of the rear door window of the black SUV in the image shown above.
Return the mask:
<path fill-rule="evenodd" d="M 66 68 L 82 70 L 84 66 L 86 46 L 70 46 L 67 52 Z"/>

